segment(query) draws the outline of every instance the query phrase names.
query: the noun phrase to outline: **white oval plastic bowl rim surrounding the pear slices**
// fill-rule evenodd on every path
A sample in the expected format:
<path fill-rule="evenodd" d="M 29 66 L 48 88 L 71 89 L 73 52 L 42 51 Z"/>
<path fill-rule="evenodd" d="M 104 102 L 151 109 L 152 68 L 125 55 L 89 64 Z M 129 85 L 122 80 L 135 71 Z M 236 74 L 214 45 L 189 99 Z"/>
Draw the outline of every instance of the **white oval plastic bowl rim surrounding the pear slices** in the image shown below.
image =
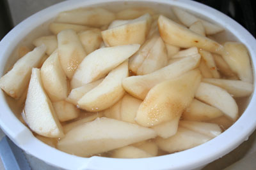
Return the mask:
<path fill-rule="evenodd" d="M 0 43 L 0 76 L 4 73 L 6 62 L 9 60 L 8 57 L 13 55 L 13 51 L 17 46 L 20 43 L 28 43 L 36 36 L 40 36 L 47 29 L 47 23 L 53 20 L 58 13 L 84 6 L 94 6 L 99 3 L 121 3 L 122 5 L 120 6 L 129 6 L 129 4 L 138 3 L 138 1 L 130 0 L 125 1 L 125 3 L 124 1 L 115 0 L 65 1 L 32 15 L 2 39 Z M 224 27 L 227 32 L 233 34 L 233 39 L 239 39 L 247 46 L 252 57 L 255 80 L 256 41 L 237 22 L 219 11 L 194 1 L 147 0 L 140 1 L 140 3 L 143 3 L 143 6 L 154 6 L 154 9 L 161 11 L 168 11 L 170 5 L 179 6 L 197 15 L 202 15 L 207 20 L 214 21 Z M 111 5 L 109 6 L 111 7 Z M 14 62 L 15 58 L 12 60 Z M 250 104 L 239 120 L 227 131 L 211 141 L 183 152 L 146 159 L 111 159 L 106 157 L 91 157 L 87 159 L 69 155 L 45 145 L 36 139 L 31 131 L 13 115 L 2 91 L 0 92 L 0 125 L 12 141 L 25 152 L 43 160 L 47 164 L 64 169 L 195 169 L 222 157 L 248 139 L 256 127 L 255 101 L 256 94 L 254 92 Z"/>

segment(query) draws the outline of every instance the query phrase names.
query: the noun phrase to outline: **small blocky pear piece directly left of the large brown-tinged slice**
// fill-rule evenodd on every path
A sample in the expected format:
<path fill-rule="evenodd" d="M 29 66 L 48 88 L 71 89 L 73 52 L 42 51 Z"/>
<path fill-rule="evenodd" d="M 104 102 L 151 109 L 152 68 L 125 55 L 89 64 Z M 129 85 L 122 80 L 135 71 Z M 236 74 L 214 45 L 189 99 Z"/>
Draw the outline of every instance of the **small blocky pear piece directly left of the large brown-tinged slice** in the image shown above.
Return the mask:
<path fill-rule="evenodd" d="M 134 118 L 136 117 L 141 103 L 141 100 L 132 97 L 129 94 L 125 94 L 122 98 L 122 106 L 120 108 L 120 120 L 136 124 Z"/>

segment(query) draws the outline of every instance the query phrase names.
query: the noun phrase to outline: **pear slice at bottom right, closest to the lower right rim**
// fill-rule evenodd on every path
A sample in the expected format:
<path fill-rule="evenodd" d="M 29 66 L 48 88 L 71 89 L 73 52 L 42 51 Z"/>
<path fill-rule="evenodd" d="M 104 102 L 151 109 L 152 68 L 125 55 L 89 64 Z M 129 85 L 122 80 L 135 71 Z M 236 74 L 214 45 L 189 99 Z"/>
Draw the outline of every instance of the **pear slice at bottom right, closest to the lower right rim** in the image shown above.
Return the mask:
<path fill-rule="evenodd" d="M 201 145 L 211 138 L 204 134 L 191 131 L 184 127 L 179 127 L 177 133 L 170 138 L 157 138 L 157 146 L 166 152 L 173 153 L 187 150 L 195 146 Z"/>

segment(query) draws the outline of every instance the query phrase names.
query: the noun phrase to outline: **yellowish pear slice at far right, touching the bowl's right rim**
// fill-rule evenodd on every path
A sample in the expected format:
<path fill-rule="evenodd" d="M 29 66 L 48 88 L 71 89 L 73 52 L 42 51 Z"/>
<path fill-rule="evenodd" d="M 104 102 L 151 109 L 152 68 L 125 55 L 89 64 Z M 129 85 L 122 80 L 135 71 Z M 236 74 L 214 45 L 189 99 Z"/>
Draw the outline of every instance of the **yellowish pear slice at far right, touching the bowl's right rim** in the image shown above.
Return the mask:
<path fill-rule="evenodd" d="M 225 51 L 222 54 L 230 69 L 237 73 L 243 81 L 253 82 L 252 66 L 250 56 L 246 47 L 237 42 L 227 42 L 224 45 Z"/>

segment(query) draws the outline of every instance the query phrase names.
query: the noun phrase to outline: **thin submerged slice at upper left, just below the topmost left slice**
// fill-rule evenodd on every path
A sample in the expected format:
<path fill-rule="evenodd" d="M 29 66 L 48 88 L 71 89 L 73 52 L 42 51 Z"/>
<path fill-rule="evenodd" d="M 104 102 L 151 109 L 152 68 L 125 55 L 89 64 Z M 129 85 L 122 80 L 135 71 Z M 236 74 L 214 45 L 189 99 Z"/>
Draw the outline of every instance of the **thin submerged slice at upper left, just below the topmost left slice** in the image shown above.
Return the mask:
<path fill-rule="evenodd" d="M 84 31 L 90 29 L 90 27 L 86 27 L 84 25 L 77 25 L 77 24 L 67 24 L 67 23 L 60 23 L 60 22 L 52 22 L 49 25 L 49 29 L 53 34 L 59 34 L 61 31 L 66 29 L 72 29 L 75 32 Z"/>

